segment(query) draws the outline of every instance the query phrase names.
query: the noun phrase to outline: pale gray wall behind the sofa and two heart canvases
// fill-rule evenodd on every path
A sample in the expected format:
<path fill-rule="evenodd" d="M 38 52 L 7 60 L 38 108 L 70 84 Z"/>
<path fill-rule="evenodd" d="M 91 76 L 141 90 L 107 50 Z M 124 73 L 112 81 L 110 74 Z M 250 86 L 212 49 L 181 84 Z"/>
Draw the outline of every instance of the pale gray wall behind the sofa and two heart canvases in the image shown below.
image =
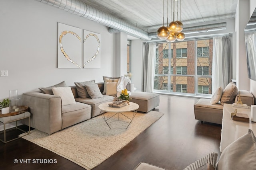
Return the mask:
<path fill-rule="evenodd" d="M 101 68 L 57 68 L 58 22 L 101 35 Z M 114 35 L 108 27 L 64 12 L 35 0 L 0 1 L 0 101 L 9 90 L 24 92 L 51 86 L 63 80 L 74 82 L 114 76 Z"/>

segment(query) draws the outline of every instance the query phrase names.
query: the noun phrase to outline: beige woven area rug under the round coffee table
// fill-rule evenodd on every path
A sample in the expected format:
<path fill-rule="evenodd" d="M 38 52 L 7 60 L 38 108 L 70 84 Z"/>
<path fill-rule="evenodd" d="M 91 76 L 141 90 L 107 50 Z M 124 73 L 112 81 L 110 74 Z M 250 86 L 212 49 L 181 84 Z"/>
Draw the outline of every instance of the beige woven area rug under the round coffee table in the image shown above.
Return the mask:
<path fill-rule="evenodd" d="M 114 113 L 105 113 L 105 116 L 110 117 L 111 114 Z M 126 115 L 131 118 L 133 112 L 126 112 Z M 110 129 L 102 117 L 97 116 L 52 135 L 35 129 L 23 138 L 90 170 L 132 141 L 162 115 L 164 113 L 158 111 L 138 112 L 127 129 Z M 126 120 L 122 115 L 119 117 L 122 122 L 113 118 L 117 115 L 109 120 L 112 122 L 110 126 L 128 125 L 123 122 Z"/>

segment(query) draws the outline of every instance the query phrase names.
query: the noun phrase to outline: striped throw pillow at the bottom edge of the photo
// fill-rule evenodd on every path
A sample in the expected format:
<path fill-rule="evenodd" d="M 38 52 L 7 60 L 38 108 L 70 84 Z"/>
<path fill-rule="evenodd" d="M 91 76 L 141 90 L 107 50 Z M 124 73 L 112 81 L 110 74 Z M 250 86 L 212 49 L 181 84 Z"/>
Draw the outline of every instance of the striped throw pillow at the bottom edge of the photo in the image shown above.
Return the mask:
<path fill-rule="evenodd" d="M 196 160 L 196 162 L 188 165 L 184 170 L 198 170 L 198 168 L 204 167 L 204 165 L 208 166 L 210 164 L 213 168 L 216 168 L 216 160 L 217 160 L 218 153 L 211 152 L 210 154 L 206 155 L 204 158 L 200 158 Z"/>

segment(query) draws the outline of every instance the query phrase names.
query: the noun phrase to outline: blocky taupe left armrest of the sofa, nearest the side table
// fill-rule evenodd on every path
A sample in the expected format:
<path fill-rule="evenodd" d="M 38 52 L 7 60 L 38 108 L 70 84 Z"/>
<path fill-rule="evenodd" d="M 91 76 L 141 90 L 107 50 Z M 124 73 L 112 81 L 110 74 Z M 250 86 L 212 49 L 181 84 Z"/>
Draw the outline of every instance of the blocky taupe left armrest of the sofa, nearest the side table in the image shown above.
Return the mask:
<path fill-rule="evenodd" d="M 60 96 L 28 92 L 22 94 L 22 105 L 29 107 L 31 127 L 48 134 L 62 129 Z"/>

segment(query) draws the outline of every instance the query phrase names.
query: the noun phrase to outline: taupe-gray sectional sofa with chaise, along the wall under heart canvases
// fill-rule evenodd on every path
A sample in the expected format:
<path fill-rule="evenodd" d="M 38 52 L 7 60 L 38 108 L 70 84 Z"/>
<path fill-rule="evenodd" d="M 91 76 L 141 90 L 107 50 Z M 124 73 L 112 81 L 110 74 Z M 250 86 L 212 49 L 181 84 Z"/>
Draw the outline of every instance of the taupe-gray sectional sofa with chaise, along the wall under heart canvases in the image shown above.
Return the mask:
<path fill-rule="evenodd" d="M 63 82 L 62 82 L 63 83 Z M 41 91 L 27 92 L 22 94 L 22 105 L 28 106 L 31 113 L 31 127 L 52 134 L 56 131 L 80 123 L 97 115 L 100 115 L 98 106 L 104 102 L 112 102 L 116 100 L 115 95 L 103 95 L 104 82 L 96 83 L 100 92 L 100 98 L 91 97 L 80 98 L 77 86 L 70 86 L 74 96 L 74 103 L 62 106 L 62 98 L 53 95 L 52 88 L 44 89 L 50 94 L 44 94 Z M 54 85 L 54 87 L 60 87 Z M 127 90 L 131 91 L 131 102 L 137 103 L 139 109 L 137 111 L 148 112 L 159 106 L 159 95 L 155 93 L 133 92 L 133 84 L 128 83 Z M 28 121 L 24 121 L 28 125 Z"/>

